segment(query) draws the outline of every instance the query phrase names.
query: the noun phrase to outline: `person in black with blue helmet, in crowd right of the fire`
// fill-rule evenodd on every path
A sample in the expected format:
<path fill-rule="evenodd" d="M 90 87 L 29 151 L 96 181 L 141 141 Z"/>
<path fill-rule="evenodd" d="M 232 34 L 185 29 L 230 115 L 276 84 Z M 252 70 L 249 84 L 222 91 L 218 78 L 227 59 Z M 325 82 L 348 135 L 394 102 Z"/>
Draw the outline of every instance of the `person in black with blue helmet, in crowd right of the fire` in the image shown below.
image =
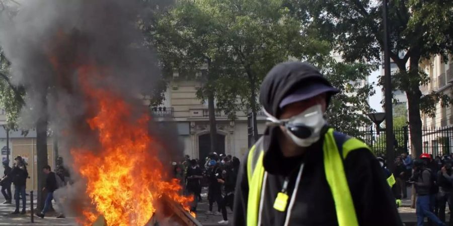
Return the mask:
<path fill-rule="evenodd" d="M 222 192 L 220 183 L 217 179 L 221 179 L 222 177 L 222 170 L 217 166 L 217 162 L 215 160 L 211 160 L 208 163 L 209 171 L 208 173 L 208 200 L 209 200 L 209 211 L 206 212 L 206 215 L 221 215 L 220 213 L 220 202 L 222 199 Z M 217 211 L 212 212 L 212 205 L 214 202 L 217 203 Z"/>

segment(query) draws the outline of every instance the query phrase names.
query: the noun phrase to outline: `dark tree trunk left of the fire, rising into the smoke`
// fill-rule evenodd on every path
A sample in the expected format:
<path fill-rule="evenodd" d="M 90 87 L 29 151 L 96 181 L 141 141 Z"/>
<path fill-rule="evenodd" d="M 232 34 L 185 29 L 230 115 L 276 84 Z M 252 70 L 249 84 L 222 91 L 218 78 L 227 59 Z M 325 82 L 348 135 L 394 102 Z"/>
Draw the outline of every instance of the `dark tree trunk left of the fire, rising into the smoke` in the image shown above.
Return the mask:
<path fill-rule="evenodd" d="M 45 97 L 44 97 L 45 98 Z M 47 100 L 43 99 L 43 108 L 46 109 Z M 36 123 L 36 159 L 37 159 L 37 171 L 38 171 L 38 196 L 37 196 L 37 203 L 36 207 L 40 211 L 44 208 L 44 200 L 45 197 L 43 196 L 44 192 L 42 192 L 42 188 L 45 187 L 46 184 L 46 177 L 47 175 L 44 174 L 42 168 L 48 165 L 47 162 L 47 117 L 40 117 Z M 33 159 L 33 158 L 32 158 Z"/>

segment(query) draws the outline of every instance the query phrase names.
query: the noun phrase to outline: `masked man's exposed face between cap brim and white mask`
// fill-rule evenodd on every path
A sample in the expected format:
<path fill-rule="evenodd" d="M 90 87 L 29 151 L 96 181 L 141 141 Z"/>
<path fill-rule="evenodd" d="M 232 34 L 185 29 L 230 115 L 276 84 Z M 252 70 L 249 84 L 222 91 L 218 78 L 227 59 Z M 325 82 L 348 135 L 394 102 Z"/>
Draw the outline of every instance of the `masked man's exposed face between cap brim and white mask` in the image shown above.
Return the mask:
<path fill-rule="evenodd" d="M 319 94 L 314 96 L 310 99 L 301 100 L 298 102 L 290 103 L 283 107 L 282 112 L 280 114 L 279 119 L 289 119 L 293 116 L 297 116 L 300 113 L 304 112 L 308 108 L 316 105 L 321 104 L 323 108 L 323 112 L 326 112 L 327 108 L 327 95 L 326 93 Z"/>

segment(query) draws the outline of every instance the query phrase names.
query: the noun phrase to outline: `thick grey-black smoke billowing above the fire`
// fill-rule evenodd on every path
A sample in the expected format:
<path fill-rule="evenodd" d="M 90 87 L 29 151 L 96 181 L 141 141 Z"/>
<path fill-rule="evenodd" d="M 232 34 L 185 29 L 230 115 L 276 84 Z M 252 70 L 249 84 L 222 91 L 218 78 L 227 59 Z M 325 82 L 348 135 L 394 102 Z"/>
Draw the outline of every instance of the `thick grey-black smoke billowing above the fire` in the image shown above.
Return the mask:
<path fill-rule="evenodd" d="M 96 65 L 94 71 L 99 73 L 87 75 L 90 85 L 121 95 L 137 117 L 145 110 L 139 95 L 149 94 L 161 79 L 156 55 L 142 46 L 145 39 L 138 29 L 140 18 L 146 18 L 144 11 L 150 10 L 143 8 L 145 2 L 30 0 L 22 2 L 17 15 L 0 15 L 0 45 L 12 63 L 12 82 L 27 91 L 22 127 L 33 128 L 38 119 L 47 119 L 59 139 L 59 153 L 69 166 L 70 149 L 97 150 L 99 145 L 97 134 L 86 123 L 93 112 L 79 76 L 82 65 Z M 164 3 L 168 1 L 150 5 L 162 8 Z M 165 147 L 171 150 L 167 153 L 179 154 L 175 150 L 181 146 L 173 145 L 174 136 L 164 133 L 174 135 L 175 130 L 160 130 L 159 138 L 172 144 Z M 166 137 L 172 141 L 166 142 Z M 71 173 L 73 179 L 79 179 L 74 170 Z M 66 198 L 66 203 L 86 200 L 81 189 L 83 182 L 79 181 L 60 189 L 56 196 Z M 77 205 L 69 206 L 70 211 L 78 212 Z"/>

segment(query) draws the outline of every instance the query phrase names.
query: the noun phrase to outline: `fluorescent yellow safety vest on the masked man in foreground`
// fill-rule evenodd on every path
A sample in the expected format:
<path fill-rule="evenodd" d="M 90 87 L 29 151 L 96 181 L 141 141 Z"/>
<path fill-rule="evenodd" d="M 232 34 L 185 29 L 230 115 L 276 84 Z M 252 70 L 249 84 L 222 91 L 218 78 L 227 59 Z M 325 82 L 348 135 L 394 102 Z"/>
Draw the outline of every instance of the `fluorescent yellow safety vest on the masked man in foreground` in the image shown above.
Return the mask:
<path fill-rule="evenodd" d="M 343 168 L 343 160 L 346 159 L 350 151 L 361 148 L 370 150 L 363 142 L 355 138 L 349 138 L 343 143 L 342 156 L 340 156 L 340 151 L 334 138 L 334 130 L 329 129 L 324 138 L 324 170 L 335 202 L 339 226 L 358 226 L 352 196 Z M 263 140 L 260 139 L 250 149 L 247 159 L 247 179 L 249 182 L 249 197 L 247 202 L 248 226 L 256 226 L 258 224 L 261 189 L 265 173 L 263 157 Z"/>

